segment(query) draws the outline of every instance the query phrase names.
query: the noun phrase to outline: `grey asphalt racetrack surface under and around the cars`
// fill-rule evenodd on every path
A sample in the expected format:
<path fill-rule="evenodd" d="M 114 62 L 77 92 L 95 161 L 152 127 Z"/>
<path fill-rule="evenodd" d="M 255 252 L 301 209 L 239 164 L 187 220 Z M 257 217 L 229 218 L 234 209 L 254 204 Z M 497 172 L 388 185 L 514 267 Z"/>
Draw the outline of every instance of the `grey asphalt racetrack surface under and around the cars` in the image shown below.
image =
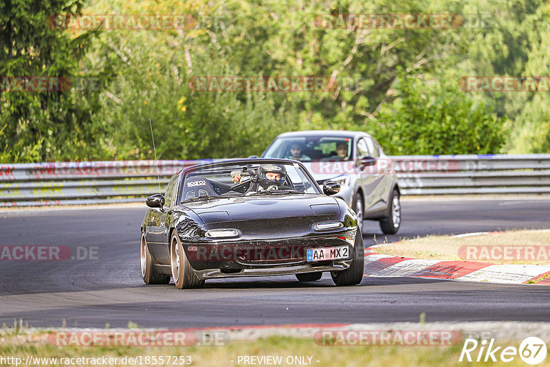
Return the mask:
<path fill-rule="evenodd" d="M 204 289 L 146 286 L 140 223 L 146 208 L 0 212 L 0 246 L 59 245 L 77 258 L 0 261 L 0 324 L 208 327 L 347 322 L 550 320 L 548 287 L 364 277 L 333 286 L 329 274 L 208 280 Z M 550 227 L 549 199 L 404 201 L 401 237 Z M 366 222 L 364 241 L 385 241 Z M 89 252 L 92 252 L 90 258 Z M 85 255 L 87 252 L 87 256 Z M 85 257 L 78 260 L 78 256 Z"/>

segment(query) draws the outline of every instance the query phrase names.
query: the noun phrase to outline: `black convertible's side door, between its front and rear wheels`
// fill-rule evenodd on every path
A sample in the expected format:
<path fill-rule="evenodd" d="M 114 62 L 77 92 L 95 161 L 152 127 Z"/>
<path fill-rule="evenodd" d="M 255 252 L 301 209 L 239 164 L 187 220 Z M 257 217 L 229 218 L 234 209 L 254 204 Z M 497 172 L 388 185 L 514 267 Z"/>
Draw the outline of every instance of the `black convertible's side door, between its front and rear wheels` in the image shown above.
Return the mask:
<path fill-rule="evenodd" d="M 168 181 L 166 186 L 166 192 L 164 192 L 164 207 L 170 208 L 172 206 L 172 199 L 176 188 L 177 177 L 179 175 L 173 175 Z M 168 227 L 166 221 L 168 219 L 168 213 L 166 210 L 160 208 L 153 208 L 151 210 L 150 221 L 146 226 L 145 237 L 147 239 L 149 252 L 155 260 L 164 263 L 168 257 L 167 243 L 168 243 Z"/>

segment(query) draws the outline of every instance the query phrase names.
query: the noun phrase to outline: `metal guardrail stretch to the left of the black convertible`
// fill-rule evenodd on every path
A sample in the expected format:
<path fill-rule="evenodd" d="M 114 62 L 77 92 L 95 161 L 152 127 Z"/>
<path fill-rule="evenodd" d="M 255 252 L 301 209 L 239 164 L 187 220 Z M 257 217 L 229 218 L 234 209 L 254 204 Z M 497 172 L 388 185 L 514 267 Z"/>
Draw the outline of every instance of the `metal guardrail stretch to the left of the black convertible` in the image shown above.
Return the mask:
<path fill-rule="evenodd" d="M 0 164 L 0 207 L 142 201 L 201 162 L 212 159 Z"/>

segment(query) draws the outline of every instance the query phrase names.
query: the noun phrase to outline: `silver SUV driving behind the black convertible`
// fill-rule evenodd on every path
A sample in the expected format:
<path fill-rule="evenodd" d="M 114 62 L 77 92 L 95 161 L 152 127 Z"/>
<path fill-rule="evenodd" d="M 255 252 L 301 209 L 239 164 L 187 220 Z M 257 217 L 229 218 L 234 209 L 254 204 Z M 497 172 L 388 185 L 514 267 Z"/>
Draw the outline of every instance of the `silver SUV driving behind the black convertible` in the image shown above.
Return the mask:
<path fill-rule="evenodd" d="M 395 166 L 371 135 L 362 131 L 294 131 L 283 133 L 267 147 L 263 158 L 296 159 L 322 186 L 340 183 L 340 197 L 359 219 L 380 221 L 385 234 L 401 225 Z"/>

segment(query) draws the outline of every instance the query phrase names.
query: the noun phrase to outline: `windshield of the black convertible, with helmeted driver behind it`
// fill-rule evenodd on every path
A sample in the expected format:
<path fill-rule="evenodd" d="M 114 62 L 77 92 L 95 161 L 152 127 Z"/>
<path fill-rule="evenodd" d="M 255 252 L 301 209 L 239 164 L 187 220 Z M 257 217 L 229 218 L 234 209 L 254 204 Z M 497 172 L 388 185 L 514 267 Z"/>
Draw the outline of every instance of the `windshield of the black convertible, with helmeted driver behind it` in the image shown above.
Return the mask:
<path fill-rule="evenodd" d="M 250 161 L 248 161 L 250 162 Z M 180 188 L 181 202 L 256 195 L 320 194 L 305 168 L 297 163 L 258 160 L 257 164 L 212 164 L 191 168 Z"/>

